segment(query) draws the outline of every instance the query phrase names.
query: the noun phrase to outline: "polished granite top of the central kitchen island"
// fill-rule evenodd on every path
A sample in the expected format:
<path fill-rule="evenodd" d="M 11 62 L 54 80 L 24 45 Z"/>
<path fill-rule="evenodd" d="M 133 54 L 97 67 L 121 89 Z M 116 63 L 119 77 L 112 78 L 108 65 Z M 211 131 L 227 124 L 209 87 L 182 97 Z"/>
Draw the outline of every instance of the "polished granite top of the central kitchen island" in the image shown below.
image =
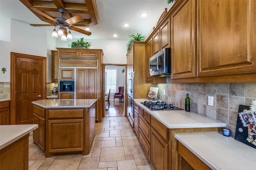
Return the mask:
<path fill-rule="evenodd" d="M 45 108 L 85 108 L 91 107 L 97 99 L 43 99 L 36 100 L 32 104 Z"/>

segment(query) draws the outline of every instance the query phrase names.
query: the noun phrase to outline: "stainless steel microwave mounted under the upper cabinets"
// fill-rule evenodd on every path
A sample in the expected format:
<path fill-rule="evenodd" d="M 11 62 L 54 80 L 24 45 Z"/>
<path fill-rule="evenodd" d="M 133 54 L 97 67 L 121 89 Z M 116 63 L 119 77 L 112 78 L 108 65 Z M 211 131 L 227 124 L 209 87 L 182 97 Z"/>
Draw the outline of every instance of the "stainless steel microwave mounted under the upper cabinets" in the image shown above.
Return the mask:
<path fill-rule="evenodd" d="M 149 59 L 150 76 L 171 76 L 171 49 L 165 48 Z"/>

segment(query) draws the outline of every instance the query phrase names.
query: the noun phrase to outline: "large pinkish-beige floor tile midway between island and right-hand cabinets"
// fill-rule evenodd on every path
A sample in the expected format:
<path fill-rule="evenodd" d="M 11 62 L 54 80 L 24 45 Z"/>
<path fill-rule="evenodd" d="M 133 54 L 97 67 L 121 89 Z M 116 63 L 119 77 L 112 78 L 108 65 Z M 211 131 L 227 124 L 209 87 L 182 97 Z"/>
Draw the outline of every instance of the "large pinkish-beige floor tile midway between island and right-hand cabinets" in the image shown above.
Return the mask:
<path fill-rule="evenodd" d="M 105 147 L 100 152 L 100 162 L 125 160 L 124 147 Z"/>

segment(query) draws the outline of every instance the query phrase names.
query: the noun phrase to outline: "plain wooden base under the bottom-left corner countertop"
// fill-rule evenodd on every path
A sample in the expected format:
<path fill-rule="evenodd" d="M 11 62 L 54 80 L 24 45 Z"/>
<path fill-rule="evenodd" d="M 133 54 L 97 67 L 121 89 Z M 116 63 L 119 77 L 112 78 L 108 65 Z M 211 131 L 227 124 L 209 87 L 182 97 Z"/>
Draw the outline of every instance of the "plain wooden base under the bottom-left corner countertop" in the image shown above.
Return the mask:
<path fill-rule="evenodd" d="M 28 170 L 29 134 L 0 150 L 0 170 Z"/>

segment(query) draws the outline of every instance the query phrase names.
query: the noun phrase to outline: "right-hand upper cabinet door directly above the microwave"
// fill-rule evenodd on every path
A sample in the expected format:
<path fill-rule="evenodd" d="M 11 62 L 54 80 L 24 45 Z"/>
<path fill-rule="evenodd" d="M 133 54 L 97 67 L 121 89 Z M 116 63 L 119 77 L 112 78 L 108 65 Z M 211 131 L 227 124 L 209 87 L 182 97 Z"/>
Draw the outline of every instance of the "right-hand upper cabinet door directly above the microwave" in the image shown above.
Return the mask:
<path fill-rule="evenodd" d="M 170 31 L 170 18 L 164 22 L 160 28 L 161 37 L 160 37 L 160 49 L 170 48 L 171 45 L 171 31 Z"/>

